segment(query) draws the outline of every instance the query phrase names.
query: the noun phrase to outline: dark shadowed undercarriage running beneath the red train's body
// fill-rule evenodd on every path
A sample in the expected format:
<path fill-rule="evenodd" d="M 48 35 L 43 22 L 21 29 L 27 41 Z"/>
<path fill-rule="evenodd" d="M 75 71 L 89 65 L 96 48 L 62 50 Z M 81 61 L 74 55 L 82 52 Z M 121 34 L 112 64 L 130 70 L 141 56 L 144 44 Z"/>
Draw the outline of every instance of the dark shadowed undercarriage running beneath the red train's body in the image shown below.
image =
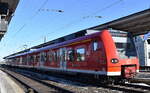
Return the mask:
<path fill-rule="evenodd" d="M 6 69 L 13 69 L 13 70 L 15 69 L 15 70 L 22 70 L 22 71 L 31 71 L 35 73 L 44 74 L 44 75 L 62 77 L 62 78 L 67 78 L 67 79 L 71 79 L 71 80 L 75 80 L 79 82 L 85 82 L 85 83 L 97 84 L 97 85 L 99 84 L 104 84 L 104 85 L 124 84 L 125 82 L 130 81 L 130 78 L 125 77 L 124 72 L 121 72 L 121 76 L 106 76 L 106 75 L 86 74 L 86 73 L 78 73 L 78 72 L 71 73 L 71 72 L 56 71 L 56 70 L 52 71 L 52 70 L 10 66 L 10 65 L 3 65 L 2 67 Z"/>

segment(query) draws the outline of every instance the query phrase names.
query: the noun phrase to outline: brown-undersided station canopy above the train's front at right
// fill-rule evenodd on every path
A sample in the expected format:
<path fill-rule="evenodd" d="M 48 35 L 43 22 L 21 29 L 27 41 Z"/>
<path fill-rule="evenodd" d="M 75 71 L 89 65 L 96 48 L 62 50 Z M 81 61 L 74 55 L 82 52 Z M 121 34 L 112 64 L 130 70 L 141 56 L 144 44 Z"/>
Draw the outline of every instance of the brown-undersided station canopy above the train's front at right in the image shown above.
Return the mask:
<path fill-rule="evenodd" d="M 107 28 L 130 32 L 133 35 L 146 34 L 150 31 L 150 9 L 88 29 L 102 30 Z"/>

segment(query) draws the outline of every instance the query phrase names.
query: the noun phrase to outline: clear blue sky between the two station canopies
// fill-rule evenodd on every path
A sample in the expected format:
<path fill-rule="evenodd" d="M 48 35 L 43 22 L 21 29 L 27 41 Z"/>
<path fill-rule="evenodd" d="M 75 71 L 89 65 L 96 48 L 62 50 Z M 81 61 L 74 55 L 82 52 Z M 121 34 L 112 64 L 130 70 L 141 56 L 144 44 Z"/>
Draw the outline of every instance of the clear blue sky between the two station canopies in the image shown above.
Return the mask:
<path fill-rule="evenodd" d="M 43 43 L 44 37 L 50 41 L 148 8 L 150 0 L 20 0 L 0 42 L 0 60 L 23 50 L 24 45 Z"/>

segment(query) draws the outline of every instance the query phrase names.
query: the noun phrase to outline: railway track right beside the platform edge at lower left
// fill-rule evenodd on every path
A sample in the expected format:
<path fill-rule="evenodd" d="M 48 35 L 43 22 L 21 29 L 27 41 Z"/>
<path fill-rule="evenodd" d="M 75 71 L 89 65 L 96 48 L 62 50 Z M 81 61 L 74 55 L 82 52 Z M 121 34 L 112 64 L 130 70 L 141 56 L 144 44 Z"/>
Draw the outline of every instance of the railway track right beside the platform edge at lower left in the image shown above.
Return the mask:
<path fill-rule="evenodd" d="M 23 85 L 26 88 L 24 89 L 25 93 L 73 93 L 34 77 L 25 76 L 6 69 L 1 70 Z"/>

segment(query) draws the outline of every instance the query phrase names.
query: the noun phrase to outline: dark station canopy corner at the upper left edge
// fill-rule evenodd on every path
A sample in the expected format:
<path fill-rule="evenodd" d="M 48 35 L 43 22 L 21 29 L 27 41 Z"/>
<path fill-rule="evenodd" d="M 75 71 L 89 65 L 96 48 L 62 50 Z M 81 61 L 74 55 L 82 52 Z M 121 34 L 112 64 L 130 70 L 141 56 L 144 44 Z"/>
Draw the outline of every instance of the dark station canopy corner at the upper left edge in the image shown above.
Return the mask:
<path fill-rule="evenodd" d="M 20 0 L 0 0 L 0 40 L 7 31 L 13 13 Z"/>

